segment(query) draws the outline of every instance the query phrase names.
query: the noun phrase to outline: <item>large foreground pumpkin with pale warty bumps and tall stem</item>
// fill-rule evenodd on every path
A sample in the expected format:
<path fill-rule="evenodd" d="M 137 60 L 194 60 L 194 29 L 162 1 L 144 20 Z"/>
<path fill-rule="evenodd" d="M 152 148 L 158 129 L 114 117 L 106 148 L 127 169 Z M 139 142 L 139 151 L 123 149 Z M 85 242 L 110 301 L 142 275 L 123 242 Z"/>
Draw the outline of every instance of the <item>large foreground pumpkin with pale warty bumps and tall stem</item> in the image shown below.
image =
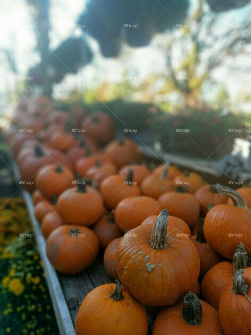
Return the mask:
<path fill-rule="evenodd" d="M 119 280 L 139 302 L 173 305 L 196 285 L 199 254 L 190 239 L 168 226 L 163 209 L 154 224 L 142 224 L 122 237 L 115 267 Z"/>

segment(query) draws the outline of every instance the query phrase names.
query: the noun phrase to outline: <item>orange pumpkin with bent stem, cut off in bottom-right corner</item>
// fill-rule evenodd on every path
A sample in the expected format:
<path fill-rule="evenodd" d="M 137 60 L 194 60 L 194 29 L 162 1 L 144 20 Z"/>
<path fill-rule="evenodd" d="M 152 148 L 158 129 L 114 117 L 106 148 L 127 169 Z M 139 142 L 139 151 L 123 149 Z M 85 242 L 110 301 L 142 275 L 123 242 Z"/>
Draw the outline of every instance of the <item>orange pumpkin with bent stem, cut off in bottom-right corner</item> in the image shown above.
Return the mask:
<path fill-rule="evenodd" d="M 237 270 L 223 290 L 219 316 L 226 335 L 250 335 L 251 268 Z"/>

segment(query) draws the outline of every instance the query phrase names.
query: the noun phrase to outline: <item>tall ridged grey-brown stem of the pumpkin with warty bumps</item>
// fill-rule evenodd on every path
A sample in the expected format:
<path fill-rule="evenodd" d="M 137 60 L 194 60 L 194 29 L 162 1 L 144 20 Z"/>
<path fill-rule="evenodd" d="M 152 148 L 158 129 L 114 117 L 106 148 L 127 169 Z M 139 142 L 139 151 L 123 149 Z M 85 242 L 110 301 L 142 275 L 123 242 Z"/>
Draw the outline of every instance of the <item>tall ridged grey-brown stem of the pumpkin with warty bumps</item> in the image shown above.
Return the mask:
<path fill-rule="evenodd" d="M 149 244 L 156 250 L 164 249 L 167 247 L 166 229 L 168 223 L 168 216 L 169 212 L 166 209 L 162 209 L 154 223 Z"/>

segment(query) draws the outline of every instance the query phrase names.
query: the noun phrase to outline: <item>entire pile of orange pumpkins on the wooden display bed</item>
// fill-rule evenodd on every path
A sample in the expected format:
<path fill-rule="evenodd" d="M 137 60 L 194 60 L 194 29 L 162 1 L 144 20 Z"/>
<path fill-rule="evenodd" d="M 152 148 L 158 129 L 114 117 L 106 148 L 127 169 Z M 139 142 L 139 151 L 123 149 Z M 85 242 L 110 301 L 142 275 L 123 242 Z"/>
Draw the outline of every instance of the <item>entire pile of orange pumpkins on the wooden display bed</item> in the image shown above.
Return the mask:
<path fill-rule="evenodd" d="M 51 264 L 74 275 L 101 249 L 115 280 L 84 298 L 77 335 L 147 335 L 147 312 L 153 335 L 251 334 L 251 188 L 150 169 L 100 111 L 38 97 L 13 118 L 4 136 Z"/>

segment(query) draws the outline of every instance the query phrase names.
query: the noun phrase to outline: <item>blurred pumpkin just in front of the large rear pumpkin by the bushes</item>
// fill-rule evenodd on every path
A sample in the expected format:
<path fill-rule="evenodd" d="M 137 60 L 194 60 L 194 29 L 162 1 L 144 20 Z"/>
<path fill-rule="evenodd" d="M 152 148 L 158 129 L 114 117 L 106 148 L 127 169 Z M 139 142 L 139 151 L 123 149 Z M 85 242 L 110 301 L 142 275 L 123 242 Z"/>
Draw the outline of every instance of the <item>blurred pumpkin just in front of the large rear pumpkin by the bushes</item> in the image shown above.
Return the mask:
<path fill-rule="evenodd" d="M 113 161 L 118 169 L 132 162 L 141 163 L 142 161 L 138 144 L 129 138 L 111 141 L 104 148 L 104 155 L 108 160 Z"/>

